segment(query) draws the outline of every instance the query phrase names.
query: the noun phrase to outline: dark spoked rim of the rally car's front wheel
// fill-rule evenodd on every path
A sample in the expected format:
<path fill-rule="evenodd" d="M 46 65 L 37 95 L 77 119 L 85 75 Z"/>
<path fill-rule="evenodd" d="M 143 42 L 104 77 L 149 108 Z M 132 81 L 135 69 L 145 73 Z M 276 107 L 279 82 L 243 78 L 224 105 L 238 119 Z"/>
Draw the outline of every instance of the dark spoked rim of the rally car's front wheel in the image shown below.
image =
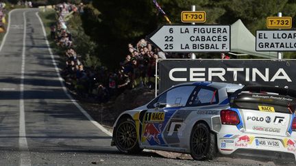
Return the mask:
<path fill-rule="evenodd" d="M 136 143 L 136 128 L 132 122 L 123 122 L 116 130 L 116 141 L 123 150 L 132 149 Z"/>

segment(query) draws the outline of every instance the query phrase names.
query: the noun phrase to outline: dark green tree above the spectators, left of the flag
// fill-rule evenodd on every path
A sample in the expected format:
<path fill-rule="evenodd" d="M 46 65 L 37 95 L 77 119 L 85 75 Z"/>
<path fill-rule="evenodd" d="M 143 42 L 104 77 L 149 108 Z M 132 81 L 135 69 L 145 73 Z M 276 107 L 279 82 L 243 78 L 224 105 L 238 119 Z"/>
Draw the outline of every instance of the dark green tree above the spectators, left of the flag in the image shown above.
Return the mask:
<path fill-rule="evenodd" d="M 145 38 L 158 25 L 151 1 L 101 0 L 93 1 L 93 6 L 84 10 L 84 30 L 99 45 L 99 58 L 111 68 L 118 68 L 128 53 L 127 43 Z"/>

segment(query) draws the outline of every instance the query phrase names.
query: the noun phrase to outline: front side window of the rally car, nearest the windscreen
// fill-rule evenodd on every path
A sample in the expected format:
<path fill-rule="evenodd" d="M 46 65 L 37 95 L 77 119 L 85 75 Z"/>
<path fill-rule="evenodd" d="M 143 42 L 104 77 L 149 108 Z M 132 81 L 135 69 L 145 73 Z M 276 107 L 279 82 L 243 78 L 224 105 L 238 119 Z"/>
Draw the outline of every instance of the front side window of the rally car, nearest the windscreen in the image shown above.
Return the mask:
<path fill-rule="evenodd" d="M 168 92 L 158 96 L 158 98 L 152 100 L 149 105 L 147 105 L 148 109 L 154 108 L 153 105 L 156 102 L 166 103 L 167 107 L 171 106 L 185 106 L 190 94 L 195 89 L 195 85 L 184 85 L 180 87 L 175 87 Z"/>

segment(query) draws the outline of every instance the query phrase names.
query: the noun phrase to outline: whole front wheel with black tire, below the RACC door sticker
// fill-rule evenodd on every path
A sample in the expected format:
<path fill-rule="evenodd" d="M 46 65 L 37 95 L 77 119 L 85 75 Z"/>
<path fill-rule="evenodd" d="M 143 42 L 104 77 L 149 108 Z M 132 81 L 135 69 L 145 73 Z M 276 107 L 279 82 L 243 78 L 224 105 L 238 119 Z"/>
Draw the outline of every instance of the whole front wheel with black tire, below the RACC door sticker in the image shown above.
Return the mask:
<path fill-rule="evenodd" d="M 123 118 L 119 120 L 114 132 L 116 148 L 123 153 L 137 154 L 142 151 L 138 144 L 134 120 Z"/>

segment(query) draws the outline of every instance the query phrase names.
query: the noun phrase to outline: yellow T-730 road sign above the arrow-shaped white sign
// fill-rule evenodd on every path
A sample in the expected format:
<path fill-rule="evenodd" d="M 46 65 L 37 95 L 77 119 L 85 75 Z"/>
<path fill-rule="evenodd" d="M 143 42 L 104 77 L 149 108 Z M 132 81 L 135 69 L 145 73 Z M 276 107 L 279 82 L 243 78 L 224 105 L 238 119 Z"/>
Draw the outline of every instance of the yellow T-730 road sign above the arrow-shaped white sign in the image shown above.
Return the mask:
<path fill-rule="evenodd" d="M 183 11 L 181 13 L 183 23 L 204 23 L 206 22 L 206 12 L 204 11 Z"/>

